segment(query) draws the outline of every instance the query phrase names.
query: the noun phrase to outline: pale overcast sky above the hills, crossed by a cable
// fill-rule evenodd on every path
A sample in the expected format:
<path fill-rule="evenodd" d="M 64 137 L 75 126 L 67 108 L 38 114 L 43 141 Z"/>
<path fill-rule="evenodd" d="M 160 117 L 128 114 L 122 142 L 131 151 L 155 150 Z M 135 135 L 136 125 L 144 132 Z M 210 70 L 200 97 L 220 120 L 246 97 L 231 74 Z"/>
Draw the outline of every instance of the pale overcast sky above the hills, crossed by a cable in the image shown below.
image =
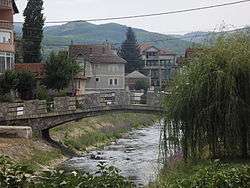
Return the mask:
<path fill-rule="evenodd" d="M 46 21 L 84 20 L 166 12 L 233 1 L 237 0 L 44 0 L 44 13 Z M 16 3 L 20 14 L 15 16 L 15 21 L 23 21 L 22 12 L 27 0 L 16 0 Z M 220 30 L 221 25 L 238 28 L 250 25 L 250 2 L 192 13 L 110 22 L 165 34 Z M 107 22 L 95 22 L 101 23 Z"/>

